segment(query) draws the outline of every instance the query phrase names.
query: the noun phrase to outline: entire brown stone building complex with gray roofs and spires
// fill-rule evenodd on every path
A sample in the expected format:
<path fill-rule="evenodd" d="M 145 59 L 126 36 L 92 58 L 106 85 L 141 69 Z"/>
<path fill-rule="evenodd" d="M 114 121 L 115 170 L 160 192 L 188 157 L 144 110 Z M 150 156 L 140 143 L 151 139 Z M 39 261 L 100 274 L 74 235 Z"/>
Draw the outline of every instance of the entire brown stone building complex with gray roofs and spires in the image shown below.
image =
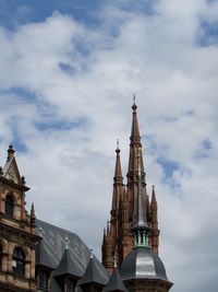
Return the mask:
<path fill-rule="evenodd" d="M 0 292 L 167 292 L 172 287 L 158 256 L 158 205 L 146 174 L 132 106 L 130 156 L 124 185 L 116 149 L 110 221 L 102 238 L 101 262 L 80 236 L 36 219 L 25 209 L 29 188 L 12 145 L 0 166 Z"/>

